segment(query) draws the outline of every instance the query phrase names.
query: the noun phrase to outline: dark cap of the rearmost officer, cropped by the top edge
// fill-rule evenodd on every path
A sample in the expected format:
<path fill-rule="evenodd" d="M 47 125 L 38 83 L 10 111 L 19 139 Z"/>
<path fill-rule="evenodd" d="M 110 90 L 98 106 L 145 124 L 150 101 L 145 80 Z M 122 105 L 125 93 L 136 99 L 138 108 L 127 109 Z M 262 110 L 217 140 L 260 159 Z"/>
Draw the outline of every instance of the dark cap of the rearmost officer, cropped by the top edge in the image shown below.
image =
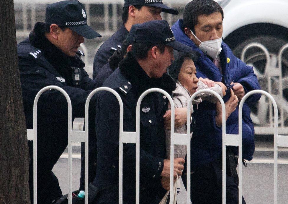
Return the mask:
<path fill-rule="evenodd" d="M 167 7 L 163 4 L 162 0 L 125 0 L 124 7 L 129 7 L 131 5 L 143 5 L 143 6 L 150 6 L 150 7 L 158 7 L 161 8 L 163 12 L 178 15 L 179 12 L 175 9 Z"/>

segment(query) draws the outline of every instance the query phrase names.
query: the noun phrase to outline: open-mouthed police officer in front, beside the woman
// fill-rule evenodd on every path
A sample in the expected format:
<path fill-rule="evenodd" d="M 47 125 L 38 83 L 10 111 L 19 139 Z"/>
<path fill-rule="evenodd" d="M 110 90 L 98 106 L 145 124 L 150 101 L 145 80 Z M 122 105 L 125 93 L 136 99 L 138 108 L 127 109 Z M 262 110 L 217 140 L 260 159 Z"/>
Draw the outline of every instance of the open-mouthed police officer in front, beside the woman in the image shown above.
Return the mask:
<path fill-rule="evenodd" d="M 175 82 L 166 74 L 174 60 L 173 49 L 189 52 L 191 48 L 175 41 L 166 21 L 155 20 L 135 30 L 132 51 L 120 61 L 104 82 L 119 93 L 124 105 L 124 131 L 135 132 L 136 104 L 150 88 L 161 88 L 172 95 Z M 169 183 L 170 161 L 166 158 L 163 115 L 168 100 L 160 93 L 150 93 L 140 107 L 140 202 L 159 203 Z M 97 172 L 90 187 L 100 189 L 94 203 L 118 203 L 119 103 L 110 92 L 99 95 L 96 106 Z M 123 147 L 123 202 L 135 203 L 135 145 Z M 174 176 L 181 175 L 184 159 L 174 160 Z M 89 194 L 90 194 L 89 189 Z M 89 195 L 90 196 L 90 195 Z M 93 200 L 89 197 L 90 201 Z"/>

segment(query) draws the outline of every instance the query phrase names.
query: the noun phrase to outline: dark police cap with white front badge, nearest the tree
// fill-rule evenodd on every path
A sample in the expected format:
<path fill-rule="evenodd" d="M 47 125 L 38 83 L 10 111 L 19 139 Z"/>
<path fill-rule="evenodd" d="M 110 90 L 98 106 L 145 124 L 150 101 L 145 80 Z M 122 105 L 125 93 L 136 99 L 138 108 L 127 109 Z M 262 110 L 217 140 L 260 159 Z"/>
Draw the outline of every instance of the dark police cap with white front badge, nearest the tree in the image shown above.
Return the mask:
<path fill-rule="evenodd" d="M 59 1 L 46 8 L 46 24 L 65 26 L 87 39 L 101 37 L 87 25 L 86 10 L 79 1 Z"/>

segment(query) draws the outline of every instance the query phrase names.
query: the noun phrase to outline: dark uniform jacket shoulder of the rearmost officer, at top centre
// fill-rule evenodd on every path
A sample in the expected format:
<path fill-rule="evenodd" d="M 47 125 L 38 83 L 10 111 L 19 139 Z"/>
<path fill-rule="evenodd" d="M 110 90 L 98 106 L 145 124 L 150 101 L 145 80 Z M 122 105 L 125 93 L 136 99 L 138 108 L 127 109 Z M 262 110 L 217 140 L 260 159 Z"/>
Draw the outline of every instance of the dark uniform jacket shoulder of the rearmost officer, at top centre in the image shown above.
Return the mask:
<path fill-rule="evenodd" d="M 102 44 L 102 46 L 100 46 L 100 48 L 96 52 L 93 63 L 94 80 L 102 67 L 108 63 L 109 57 L 111 57 L 117 49 L 121 48 L 122 43 L 126 39 L 128 33 L 128 30 L 125 28 L 124 25 L 122 25 L 120 27 L 120 30 L 115 32 Z"/>

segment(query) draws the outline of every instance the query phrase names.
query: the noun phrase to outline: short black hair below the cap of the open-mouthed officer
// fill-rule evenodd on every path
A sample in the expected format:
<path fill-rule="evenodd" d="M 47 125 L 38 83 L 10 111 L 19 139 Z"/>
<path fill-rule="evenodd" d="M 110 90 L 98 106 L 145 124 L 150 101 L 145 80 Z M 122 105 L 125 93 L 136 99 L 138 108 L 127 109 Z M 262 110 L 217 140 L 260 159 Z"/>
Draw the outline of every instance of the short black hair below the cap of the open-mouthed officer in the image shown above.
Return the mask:
<path fill-rule="evenodd" d="M 165 44 L 164 43 L 134 43 L 132 46 L 132 54 L 136 59 L 146 59 L 148 51 L 156 46 L 161 54 L 165 51 Z"/>

